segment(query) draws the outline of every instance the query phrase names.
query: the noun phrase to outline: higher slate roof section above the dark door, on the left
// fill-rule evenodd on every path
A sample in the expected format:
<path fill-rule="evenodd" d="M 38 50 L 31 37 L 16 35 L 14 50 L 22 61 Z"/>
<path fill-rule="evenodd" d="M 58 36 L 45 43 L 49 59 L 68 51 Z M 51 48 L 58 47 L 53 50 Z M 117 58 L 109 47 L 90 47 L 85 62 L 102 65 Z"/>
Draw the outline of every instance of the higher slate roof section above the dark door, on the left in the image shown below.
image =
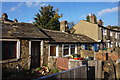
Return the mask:
<path fill-rule="evenodd" d="M 37 27 L 30 23 L 2 24 L 1 29 L 2 38 L 48 38 Z"/>

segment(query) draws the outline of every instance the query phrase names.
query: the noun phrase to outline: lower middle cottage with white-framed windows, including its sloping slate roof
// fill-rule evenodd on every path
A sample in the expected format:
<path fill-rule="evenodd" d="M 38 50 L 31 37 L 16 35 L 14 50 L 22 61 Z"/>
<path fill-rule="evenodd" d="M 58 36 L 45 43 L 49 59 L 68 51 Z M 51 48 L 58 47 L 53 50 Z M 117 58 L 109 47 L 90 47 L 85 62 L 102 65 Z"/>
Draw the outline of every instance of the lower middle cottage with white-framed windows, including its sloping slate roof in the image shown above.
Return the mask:
<path fill-rule="evenodd" d="M 80 50 L 93 50 L 95 41 L 85 35 L 71 34 L 67 32 L 40 29 L 41 32 L 50 38 L 44 43 L 47 47 L 44 52 L 44 64 L 53 67 L 57 57 L 67 57 L 73 54 L 80 54 Z"/>

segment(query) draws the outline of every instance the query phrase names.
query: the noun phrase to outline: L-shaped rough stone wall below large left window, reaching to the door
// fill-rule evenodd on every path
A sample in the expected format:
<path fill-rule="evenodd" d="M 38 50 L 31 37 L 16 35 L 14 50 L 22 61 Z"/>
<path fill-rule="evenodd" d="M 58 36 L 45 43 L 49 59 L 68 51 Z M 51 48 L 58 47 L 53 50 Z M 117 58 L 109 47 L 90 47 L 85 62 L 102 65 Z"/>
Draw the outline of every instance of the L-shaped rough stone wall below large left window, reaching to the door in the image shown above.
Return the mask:
<path fill-rule="evenodd" d="M 29 41 L 20 40 L 20 59 L 9 59 L 2 64 L 2 68 L 14 68 L 14 69 L 25 69 L 30 68 L 28 66 L 29 61 Z"/>

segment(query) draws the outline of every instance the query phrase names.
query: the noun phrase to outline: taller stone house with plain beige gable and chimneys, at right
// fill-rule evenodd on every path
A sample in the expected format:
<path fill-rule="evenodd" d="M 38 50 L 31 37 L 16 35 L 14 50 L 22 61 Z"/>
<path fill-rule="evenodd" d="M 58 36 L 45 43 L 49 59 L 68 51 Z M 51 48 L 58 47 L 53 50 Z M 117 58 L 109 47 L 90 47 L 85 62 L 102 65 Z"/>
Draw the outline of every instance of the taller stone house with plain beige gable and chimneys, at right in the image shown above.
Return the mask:
<path fill-rule="evenodd" d="M 95 24 L 94 17 L 90 17 L 90 22 L 81 20 L 72 27 L 70 32 L 86 35 L 99 42 L 97 46 L 100 47 L 97 49 L 120 47 L 120 28 L 104 27 L 102 20 Z"/>

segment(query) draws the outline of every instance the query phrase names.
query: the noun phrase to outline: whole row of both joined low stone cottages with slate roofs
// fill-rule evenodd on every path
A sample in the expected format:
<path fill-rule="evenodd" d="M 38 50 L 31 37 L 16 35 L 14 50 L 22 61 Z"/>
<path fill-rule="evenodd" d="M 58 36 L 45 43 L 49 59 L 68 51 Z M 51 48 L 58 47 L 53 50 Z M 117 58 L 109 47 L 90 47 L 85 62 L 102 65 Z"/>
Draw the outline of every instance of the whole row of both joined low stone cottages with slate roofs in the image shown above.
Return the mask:
<path fill-rule="evenodd" d="M 2 68 L 36 68 L 50 63 L 51 57 L 78 54 L 81 49 L 94 50 L 96 44 L 85 35 L 38 29 L 30 23 L 2 23 L 0 28 Z"/>

